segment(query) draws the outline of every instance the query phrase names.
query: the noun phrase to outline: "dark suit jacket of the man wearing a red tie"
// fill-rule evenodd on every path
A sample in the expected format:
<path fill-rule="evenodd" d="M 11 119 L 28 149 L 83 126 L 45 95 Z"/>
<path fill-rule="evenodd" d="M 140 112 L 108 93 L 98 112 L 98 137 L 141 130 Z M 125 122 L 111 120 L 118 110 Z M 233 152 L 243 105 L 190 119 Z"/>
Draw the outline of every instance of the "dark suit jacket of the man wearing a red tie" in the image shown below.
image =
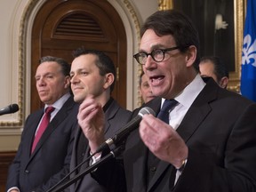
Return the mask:
<path fill-rule="evenodd" d="M 19 149 L 9 168 L 7 189 L 18 187 L 21 192 L 46 191 L 69 172 L 77 110 L 71 96 L 54 116 L 31 155 L 34 134 L 44 109 L 28 116 Z"/>

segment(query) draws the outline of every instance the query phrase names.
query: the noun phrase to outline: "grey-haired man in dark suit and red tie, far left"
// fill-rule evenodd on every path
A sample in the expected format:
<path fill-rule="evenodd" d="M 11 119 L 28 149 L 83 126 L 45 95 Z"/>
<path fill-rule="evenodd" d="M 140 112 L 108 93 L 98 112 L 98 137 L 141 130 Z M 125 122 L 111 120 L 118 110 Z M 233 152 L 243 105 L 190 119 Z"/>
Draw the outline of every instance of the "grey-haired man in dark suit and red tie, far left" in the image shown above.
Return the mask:
<path fill-rule="evenodd" d="M 40 60 L 35 77 L 44 108 L 26 120 L 19 149 L 10 166 L 7 191 L 46 191 L 69 172 L 78 110 L 70 94 L 69 70 L 70 65 L 63 59 L 46 56 Z M 44 109 L 48 107 L 54 109 L 51 122 L 32 151 L 45 116 Z"/>

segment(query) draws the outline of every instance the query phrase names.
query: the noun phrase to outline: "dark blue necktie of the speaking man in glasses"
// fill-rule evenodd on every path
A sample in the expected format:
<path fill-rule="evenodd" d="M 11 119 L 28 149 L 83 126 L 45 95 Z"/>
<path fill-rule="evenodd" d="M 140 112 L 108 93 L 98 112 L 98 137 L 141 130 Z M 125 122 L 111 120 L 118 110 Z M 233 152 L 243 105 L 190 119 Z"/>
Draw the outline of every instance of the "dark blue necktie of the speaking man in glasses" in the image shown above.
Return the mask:
<path fill-rule="evenodd" d="M 157 118 L 169 124 L 169 113 L 177 105 L 177 100 L 164 100 L 163 107 L 160 109 Z"/>

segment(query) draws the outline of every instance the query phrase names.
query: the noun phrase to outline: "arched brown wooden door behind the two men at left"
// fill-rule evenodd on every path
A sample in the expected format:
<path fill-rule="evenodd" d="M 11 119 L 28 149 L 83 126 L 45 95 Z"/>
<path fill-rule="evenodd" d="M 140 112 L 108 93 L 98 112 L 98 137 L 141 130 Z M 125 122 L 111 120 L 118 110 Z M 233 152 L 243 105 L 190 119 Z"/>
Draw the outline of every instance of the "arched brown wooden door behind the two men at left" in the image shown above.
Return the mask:
<path fill-rule="evenodd" d="M 38 60 L 46 55 L 72 62 L 78 47 L 100 50 L 114 61 L 119 78 L 112 96 L 126 108 L 126 34 L 123 21 L 106 0 L 48 0 L 37 12 L 31 44 L 31 111 L 43 104 L 36 92 Z"/>

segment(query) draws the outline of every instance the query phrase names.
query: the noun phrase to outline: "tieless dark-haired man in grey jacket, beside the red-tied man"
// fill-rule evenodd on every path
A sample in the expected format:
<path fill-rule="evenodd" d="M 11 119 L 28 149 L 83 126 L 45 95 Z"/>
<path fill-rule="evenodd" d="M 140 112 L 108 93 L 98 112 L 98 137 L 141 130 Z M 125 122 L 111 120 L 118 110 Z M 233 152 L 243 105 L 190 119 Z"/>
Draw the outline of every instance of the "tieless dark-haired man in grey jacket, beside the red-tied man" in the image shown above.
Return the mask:
<path fill-rule="evenodd" d="M 116 68 L 112 60 L 103 52 L 78 48 L 73 52 L 75 59 L 72 61 L 70 76 L 71 89 L 74 92 L 74 100 L 81 103 L 79 113 L 84 108 L 84 100 L 96 100 L 104 111 L 100 120 L 104 121 L 104 135 L 109 138 L 122 128 L 131 117 L 131 111 L 121 108 L 116 100 L 111 97 L 116 81 Z M 93 112 L 83 118 L 92 116 Z M 77 127 L 70 171 L 83 162 L 90 155 L 88 140 L 85 139 L 84 129 Z M 100 140 L 104 142 L 105 140 Z M 83 172 L 88 162 L 75 173 Z M 76 174 L 71 175 L 74 177 Z M 92 179 L 90 174 L 70 186 L 70 191 L 100 192 L 107 191 Z"/>

